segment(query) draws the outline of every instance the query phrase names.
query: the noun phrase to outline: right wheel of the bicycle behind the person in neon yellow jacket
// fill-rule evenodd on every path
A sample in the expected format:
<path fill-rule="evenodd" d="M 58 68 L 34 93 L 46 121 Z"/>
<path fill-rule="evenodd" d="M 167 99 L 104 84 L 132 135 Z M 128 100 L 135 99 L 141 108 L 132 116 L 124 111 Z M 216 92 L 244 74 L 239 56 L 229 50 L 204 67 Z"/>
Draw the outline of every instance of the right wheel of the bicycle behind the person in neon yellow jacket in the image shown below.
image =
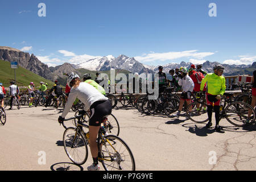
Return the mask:
<path fill-rule="evenodd" d="M 251 109 L 249 122 L 245 122 L 248 116 L 248 110 Z M 245 127 L 255 122 L 255 110 L 246 102 L 235 101 L 230 103 L 224 110 L 225 118 L 234 126 Z"/>

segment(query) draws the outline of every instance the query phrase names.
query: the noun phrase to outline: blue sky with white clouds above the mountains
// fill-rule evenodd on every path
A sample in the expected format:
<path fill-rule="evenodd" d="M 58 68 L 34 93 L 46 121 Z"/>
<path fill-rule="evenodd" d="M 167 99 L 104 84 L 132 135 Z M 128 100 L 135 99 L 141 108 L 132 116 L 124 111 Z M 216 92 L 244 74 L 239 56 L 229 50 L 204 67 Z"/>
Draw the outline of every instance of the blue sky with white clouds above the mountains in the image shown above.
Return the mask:
<path fill-rule="evenodd" d="M 217 16 L 209 16 L 210 3 Z M 0 7 L 0 46 L 48 65 L 107 55 L 148 65 L 256 61 L 255 0 L 1 0 Z"/>

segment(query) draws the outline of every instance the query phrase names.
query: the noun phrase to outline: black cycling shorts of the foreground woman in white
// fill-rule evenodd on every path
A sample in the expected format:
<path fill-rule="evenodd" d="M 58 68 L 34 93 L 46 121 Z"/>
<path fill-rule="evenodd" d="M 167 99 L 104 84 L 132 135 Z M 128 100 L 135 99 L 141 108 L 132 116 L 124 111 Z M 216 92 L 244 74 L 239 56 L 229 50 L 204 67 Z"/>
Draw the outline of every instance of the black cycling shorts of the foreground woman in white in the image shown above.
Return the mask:
<path fill-rule="evenodd" d="M 89 126 L 100 126 L 106 115 L 112 112 L 112 105 L 109 100 L 96 101 L 90 106 Z"/>

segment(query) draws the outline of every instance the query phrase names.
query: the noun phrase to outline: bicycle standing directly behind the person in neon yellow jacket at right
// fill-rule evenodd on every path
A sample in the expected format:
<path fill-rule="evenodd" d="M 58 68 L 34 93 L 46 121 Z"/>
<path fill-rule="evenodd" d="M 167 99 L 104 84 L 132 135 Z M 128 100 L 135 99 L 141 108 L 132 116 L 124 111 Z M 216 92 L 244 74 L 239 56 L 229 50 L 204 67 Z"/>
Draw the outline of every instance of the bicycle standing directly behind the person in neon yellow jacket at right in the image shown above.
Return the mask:
<path fill-rule="evenodd" d="M 255 110 L 251 105 L 246 102 L 232 101 L 233 93 L 224 93 L 220 102 L 220 119 L 226 118 L 228 122 L 234 126 L 245 127 L 255 122 Z M 193 122 L 204 123 L 209 121 L 208 114 L 203 110 L 203 106 L 207 104 L 205 94 L 202 94 L 200 100 L 188 105 L 186 114 Z M 197 106 L 199 106 L 197 108 Z M 192 107 L 192 112 L 189 112 L 189 107 Z M 246 122 L 248 117 L 248 111 L 252 113 L 249 118 L 249 122 Z"/>

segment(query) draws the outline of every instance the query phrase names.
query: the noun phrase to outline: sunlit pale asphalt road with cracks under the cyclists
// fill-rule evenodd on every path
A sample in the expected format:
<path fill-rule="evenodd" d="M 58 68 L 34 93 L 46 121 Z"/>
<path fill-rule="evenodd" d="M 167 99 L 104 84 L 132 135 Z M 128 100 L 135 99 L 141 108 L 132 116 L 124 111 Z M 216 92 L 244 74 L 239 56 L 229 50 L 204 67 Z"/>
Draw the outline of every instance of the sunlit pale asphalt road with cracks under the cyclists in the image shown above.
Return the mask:
<path fill-rule="evenodd" d="M 72 164 L 65 154 L 65 129 L 57 122 L 61 111 L 28 106 L 6 110 L 6 125 L 0 125 L 0 170 L 86 170 L 92 164 L 90 152 L 82 166 Z M 74 114 L 71 111 L 67 117 Z M 256 169 L 255 125 L 242 129 L 222 119 L 224 129 L 217 133 L 214 119 L 213 127 L 206 129 L 204 123 L 184 116 L 147 116 L 128 108 L 113 110 L 113 114 L 121 128 L 119 137 L 131 148 L 137 170 Z"/>

